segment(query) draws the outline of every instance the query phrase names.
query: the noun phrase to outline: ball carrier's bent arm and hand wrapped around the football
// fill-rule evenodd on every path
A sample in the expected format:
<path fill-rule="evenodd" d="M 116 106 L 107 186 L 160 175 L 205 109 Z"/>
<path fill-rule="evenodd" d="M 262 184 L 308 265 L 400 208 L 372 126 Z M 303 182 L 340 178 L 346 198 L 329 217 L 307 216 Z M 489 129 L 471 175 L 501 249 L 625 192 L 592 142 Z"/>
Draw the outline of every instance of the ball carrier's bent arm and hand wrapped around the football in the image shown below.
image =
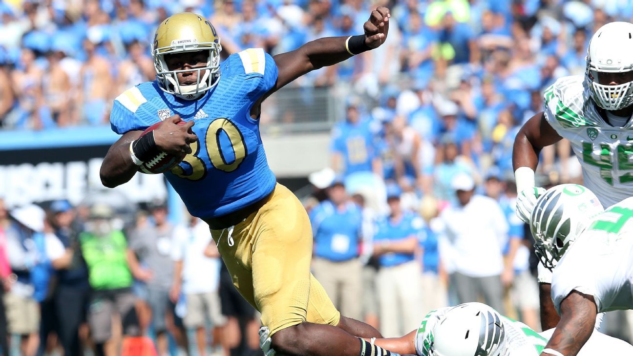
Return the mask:
<path fill-rule="evenodd" d="M 194 122 L 190 121 L 185 125 L 178 125 L 177 123 L 180 121 L 182 120 L 180 120 L 179 115 L 173 115 L 166 118 L 151 132 L 151 140 L 144 140 L 146 136 L 149 138 L 149 134 L 142 137 L 139 140 L 143 141 L 142 144 L 134 145 L 134 158 L 132 158 L 131 143 L 141 137 L 142 131 L 125 132 L 118 141 L 110 146 L 106 158 L 101 163 L 99 171 L 101 183 L 108 188 L 115 188 L 129 181 L 141 165 L 138 163 L 139 160 L 144 161 L 144 156 L 152 158 L 159 150 L 171 154 L 191 153 L 189 144 L 197 140 L 196 134 L 189 132 Z"/>

